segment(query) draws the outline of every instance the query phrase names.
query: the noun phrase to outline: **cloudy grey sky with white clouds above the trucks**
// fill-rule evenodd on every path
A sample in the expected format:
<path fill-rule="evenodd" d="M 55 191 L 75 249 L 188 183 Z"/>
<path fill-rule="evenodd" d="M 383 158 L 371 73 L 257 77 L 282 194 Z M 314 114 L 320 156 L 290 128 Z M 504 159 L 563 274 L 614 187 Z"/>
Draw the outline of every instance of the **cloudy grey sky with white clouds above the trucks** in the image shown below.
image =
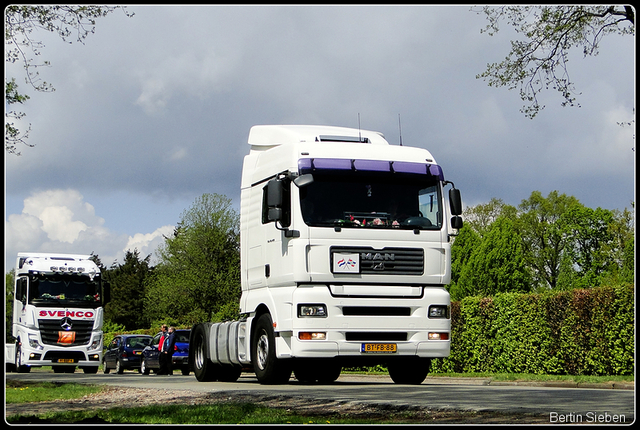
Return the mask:
<path fill-rule="evenodd" d="M 429 149 L 465 205 L 553 190 L 589 207 L 635 199 L 635 40 L 570 59 L 580 108 L 554 93 L 535 119 L 476 79 L 514 32 L 480 34 L 468 6 L 140 6 L 85 44 L 42 40 L 53 93 L 29 92 L 22 155 L 5 153 L 5 264 L 19 251 L 154 253 L 204 193 L 239 209 L 256 124 L 323 124 Z M 22 82 L 18 66 L 8 76 Z M 26 85 L 21 85 L 27 90 Z"/>

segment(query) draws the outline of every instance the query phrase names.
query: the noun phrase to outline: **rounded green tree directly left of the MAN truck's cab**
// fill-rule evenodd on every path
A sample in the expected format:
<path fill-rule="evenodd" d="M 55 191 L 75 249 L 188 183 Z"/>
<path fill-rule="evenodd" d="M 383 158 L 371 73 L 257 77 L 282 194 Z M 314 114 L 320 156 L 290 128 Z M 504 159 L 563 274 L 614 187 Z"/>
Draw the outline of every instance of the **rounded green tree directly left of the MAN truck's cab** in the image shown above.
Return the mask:
<path fill-rule="evenodd" d="M 218 194 L 196 199 L 157 251 L 160 262 L 147 282 L 148 319 L 191 325 L 237 317 L 239 242 L 239 217 L 231 200 Z"/>

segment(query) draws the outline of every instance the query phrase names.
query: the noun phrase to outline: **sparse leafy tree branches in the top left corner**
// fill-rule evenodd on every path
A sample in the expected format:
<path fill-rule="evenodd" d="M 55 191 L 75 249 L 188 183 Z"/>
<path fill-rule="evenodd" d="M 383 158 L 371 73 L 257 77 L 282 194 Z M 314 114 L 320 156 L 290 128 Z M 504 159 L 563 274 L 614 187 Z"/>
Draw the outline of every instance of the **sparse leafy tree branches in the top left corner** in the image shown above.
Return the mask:
<path fill-rule="evenodd" d="M 53 86 L 40 79 L 38 69 L 48 67 L 48 61 L 34 62 L 35 57 L 42 54 L 44 44 L 34 40 L 34 30 L 45 30 L 57 33 L 67 43 L 72 43 L 71 37 L 77 42 L 84 43 L 86 37 L 95 31 L 96 19 L 104 17 L 121 6 L 76 6 L 76 5 L 10 5 L 5 8 L 5 62 L 22 63 L 25 70 L 25 82 L 34 90 L 40 92 L 54 91 Z M 129 17 L 133 14 L 125 11 Z M 15 78 L 5 77 L 5 102 L 7 106 L 16 103 L 24 104 L 29 96 L 18 93 Z M 18 147 L 23 144 L 32 147 L 27 142 L 31 125 L 26 131 L 20 131 L 13 121 L 25 116 L 22 112 L 5 111 L 5 151 L 9 154 L 20 155 Z"/>

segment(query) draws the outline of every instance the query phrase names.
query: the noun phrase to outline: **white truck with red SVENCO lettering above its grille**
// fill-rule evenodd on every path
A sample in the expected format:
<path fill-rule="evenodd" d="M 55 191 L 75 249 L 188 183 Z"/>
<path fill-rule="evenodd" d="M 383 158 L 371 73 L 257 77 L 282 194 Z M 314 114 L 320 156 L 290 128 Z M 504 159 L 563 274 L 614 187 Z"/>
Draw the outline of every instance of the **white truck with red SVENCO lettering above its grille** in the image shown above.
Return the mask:
<path fill-rule="evenodd" d="M 26 373 L 52 366 L 96 373 L 102 362 L 103 306 L 108 288 L 90 255 L 18 253 L 12 334 L 5 364 Z"/>

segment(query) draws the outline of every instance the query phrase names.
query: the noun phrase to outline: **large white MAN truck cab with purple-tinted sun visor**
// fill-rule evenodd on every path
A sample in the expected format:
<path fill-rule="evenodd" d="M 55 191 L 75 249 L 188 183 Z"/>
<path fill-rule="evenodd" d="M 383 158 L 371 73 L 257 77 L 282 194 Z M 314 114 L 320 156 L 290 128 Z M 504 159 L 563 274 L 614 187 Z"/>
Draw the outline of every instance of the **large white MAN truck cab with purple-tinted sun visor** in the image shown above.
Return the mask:
<path fill-rule="evenodd" d="M 249 133 L 240 201 L 239 321 L 191 331 L 199 381 L 333 382 L 344 366 L 385 365 L 420 384 L 450 351 L 451 236 L 426 149 L 378 132 L 261 125 Z M 447 209 L 446 201 L 449 201 Z"/>

